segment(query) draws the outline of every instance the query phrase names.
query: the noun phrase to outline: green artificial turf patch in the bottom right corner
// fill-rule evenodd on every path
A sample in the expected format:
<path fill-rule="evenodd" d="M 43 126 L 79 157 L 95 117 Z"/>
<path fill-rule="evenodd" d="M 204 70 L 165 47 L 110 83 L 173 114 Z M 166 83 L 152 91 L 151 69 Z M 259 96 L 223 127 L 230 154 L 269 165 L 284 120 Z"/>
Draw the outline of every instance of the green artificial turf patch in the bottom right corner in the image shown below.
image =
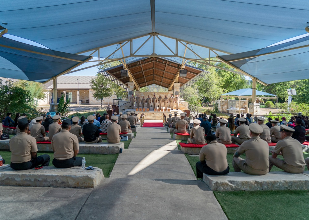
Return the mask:
<path fill-rule="evenodd" d="M 230 220 L 309 219 L 308 190 L 214 191 L 214 195 Z"/>

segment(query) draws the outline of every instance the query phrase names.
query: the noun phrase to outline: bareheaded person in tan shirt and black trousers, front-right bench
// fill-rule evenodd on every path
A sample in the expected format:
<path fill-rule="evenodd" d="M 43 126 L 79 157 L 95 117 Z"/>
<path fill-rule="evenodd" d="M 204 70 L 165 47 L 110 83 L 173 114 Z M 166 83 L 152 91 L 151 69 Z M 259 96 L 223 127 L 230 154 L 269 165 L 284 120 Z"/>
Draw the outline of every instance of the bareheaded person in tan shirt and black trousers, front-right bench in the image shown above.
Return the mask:
<path fill-rule="evenodd" d="M 207 145 L 203 146 L 200 156 L 195 164 L 197 178 L 203 178 L 203 173 L 209 175 L 224 175 L 229 173 L 230 167 L 226 160 L 227 149 L 225 145 L 216 141 L 216 136 L 206 136 Z"/>

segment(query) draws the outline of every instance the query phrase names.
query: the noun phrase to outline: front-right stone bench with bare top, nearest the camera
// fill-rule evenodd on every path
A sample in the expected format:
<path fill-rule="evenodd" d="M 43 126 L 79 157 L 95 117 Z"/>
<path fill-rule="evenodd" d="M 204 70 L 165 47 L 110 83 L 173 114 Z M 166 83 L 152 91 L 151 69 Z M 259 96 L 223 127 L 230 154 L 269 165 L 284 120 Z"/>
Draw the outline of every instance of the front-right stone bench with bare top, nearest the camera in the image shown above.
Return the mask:
<path fill-rule="evenodd" d="M 213 191 L 308 190 L 309 171 L 304 173 L 274 171 L 265 175 L 230 172 L 222 176 L 203 173 L 203 181 Z"/>

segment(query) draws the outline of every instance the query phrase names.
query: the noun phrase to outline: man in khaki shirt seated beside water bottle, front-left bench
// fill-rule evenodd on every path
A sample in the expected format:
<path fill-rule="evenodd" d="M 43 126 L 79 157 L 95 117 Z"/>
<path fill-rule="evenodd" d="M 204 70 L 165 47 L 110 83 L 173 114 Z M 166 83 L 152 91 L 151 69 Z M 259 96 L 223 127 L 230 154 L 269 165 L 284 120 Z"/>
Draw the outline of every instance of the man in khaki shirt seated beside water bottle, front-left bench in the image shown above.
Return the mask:
<path fill-rule="evenodd" d="M 74 121 L 76 121 L 76 119 Z M 75 123 L 77 122 L 78 121 Z M 70 133 L 71 120 L 63 120 L 61 128 L 61 132 L 55 134 L 52 139 L 52 149 L 54 152 L 53 165 L 57 168 L 82 166 L 83 158 L 76 157 L 79 150 L 77 136 L 73 133 Z"/>

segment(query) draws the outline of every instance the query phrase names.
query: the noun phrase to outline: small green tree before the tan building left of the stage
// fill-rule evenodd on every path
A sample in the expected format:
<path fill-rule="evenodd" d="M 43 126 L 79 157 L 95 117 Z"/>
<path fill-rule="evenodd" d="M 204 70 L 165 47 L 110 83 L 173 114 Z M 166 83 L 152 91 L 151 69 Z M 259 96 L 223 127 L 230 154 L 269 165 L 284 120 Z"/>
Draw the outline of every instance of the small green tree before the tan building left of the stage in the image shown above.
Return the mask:
<path fill-rule="evenodd" d="M 101 108 L 102 108 L 102 99 L 104 97 L 111 97 L 113 95 L 112 91 L 112 81 L 106 78 L 101 73 L 97 73 L 95 78 L 90 80 L 90 88 L 93 89 L 93 97 L 96 100 L 101 100 Z"/>

